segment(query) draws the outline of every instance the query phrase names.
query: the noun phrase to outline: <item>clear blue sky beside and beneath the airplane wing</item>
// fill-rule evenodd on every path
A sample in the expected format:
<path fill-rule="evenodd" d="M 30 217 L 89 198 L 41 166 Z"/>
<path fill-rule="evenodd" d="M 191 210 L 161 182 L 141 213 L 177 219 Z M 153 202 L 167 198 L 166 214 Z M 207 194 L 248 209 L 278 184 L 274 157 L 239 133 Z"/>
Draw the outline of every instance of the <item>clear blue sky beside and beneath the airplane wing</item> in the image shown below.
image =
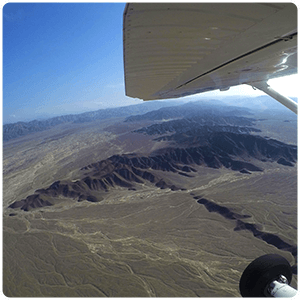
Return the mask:
<path fill-rule="evenodd" d="M 3 122 L 140 103 L 125 96 L 124 8 L 125 3 L 5 4 Z M 298 82 L 294 76 L 275 80 L 275 85 L 279 92 L 296 96 Z M 203 95 L 225 93 L 263 95 L 249 86 Z"/>

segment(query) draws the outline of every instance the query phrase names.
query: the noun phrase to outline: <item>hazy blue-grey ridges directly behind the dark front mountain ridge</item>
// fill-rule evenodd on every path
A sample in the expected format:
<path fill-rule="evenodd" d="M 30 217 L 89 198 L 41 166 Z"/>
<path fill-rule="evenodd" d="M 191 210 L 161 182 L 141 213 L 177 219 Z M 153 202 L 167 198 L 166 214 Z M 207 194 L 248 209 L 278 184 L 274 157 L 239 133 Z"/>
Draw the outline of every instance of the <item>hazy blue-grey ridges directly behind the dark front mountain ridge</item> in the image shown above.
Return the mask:
<path fill-rule="evenodd" d="M 154 140 L 173 141 L 184 147 L 205 145 L 209 136 L 215 132 L 236 134 L 260 132 L 259 129 L 253 127 L 255 119 L 239 116 L 241 113 L 247 113 L 244 110 L 237 110 L 236 107 L 232 106 L 212 106 L 201 102 L 187 103 L 175 108 L 163 108 L 142 116 L 127 118 L 126 121 L 139 120 L 140 118 L 156 120 L 161 119 L 162 115 L 170 116 L 172 112 L 176 112 L 176 116 L 180 116 L 180 118 L 152 124 L 134 132 L 147 135 L 164 135 Z M 170 133 L 173 134 L 170 135 Z"/>

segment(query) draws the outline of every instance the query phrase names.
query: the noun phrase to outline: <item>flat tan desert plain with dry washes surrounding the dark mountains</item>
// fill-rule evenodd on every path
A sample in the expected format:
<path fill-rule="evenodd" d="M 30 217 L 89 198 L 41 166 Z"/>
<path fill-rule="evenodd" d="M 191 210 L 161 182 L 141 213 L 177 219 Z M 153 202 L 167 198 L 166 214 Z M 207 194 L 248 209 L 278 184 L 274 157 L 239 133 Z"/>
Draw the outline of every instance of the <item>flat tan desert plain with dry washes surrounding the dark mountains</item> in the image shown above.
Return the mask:
<path fill-rule="evenodd" d="M 261 130 L 251 135 L 297 144 L 294 116 L 256 112 L 251 118 Z M 135 132 L 155 123 L 67 123 L 4 143 L 6 296 L 240 297 L 243 270 L 268 253 L 290 262 L 297 287 L 296 163 L 250 157 L 247 162 L 261 169 L 250 172 L 191 164 L 193 171 L 182 173 L 150 166 L 147 171 L 164 185 L 138 177 L 141 182 L 129 188 L 114 184 L 93 191 L 98 202 L 60 194 L 49 206 L 9 207 L 54 182 L 79 182 L 84 168 L 114 155 L 145 157 L 173 147 L 157 140 L 159 134 Z"/>

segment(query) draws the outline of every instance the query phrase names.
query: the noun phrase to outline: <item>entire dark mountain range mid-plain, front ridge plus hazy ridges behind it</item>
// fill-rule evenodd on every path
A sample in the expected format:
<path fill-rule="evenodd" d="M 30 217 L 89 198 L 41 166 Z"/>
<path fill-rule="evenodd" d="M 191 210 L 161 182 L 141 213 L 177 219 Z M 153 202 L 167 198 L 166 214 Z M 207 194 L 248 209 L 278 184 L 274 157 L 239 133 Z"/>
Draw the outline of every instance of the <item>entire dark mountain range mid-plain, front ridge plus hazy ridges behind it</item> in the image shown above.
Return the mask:
<path fill-rule="evenodd" d="M 175 109 L 160 109 L 157 114 L 146 114 L 148 119 L 164 119 L 166 116 L 171 118 L 182 114 L 190 115 L 188 111 L 193 108 L 191 118 L 157 123 L 135 131 L 136 134 L 158 134 L 160 136 L 156 140 L 172 141 L 172 145 L 148 156 L 135 153 L 111 156 L 82 168 L 81 179 L 56 181 L 48 188 L 36 190 L 34 194 L 9 207 L 28 211 L 52 206 L 55 205 L 55 198 L 60 196 L 75 201 L 99 202 L 103 200 L 102 192 L 109 192 L 115 187 L 135 190 L 136 184 L 145 182 L 161 189 L 184 190 L 166 180 L 166 176 L 160 177 L 154 170 L 194 177 L 197 173 L 195 166 L 227 168 L 244 174 L 263 171 L 253 163 L 255 160 L 294 166 L 297 160 L 296 146 L 250 134 L 259 131 L 249 127 L 254 120 L 234 116 L 241 113 L 235 107 L 218 106 L 215 115 L 205 107 L 205 104 L 191 103 Z M 130 117 L 127 122 L 132 122 L 133 119 L 142 120 L 143 116 Z"/>

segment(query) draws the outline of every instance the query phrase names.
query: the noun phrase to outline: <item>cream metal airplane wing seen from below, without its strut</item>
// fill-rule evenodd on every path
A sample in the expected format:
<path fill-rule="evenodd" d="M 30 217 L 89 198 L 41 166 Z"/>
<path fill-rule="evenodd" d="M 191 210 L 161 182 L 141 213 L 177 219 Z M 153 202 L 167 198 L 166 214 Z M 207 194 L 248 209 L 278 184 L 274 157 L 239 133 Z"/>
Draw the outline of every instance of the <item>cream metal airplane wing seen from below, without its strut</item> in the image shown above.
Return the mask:
<path fill-rule="evenodd" d="M 178 98 L 297 73 L 292 3 L 130 3 L 126 95 Z"/>

